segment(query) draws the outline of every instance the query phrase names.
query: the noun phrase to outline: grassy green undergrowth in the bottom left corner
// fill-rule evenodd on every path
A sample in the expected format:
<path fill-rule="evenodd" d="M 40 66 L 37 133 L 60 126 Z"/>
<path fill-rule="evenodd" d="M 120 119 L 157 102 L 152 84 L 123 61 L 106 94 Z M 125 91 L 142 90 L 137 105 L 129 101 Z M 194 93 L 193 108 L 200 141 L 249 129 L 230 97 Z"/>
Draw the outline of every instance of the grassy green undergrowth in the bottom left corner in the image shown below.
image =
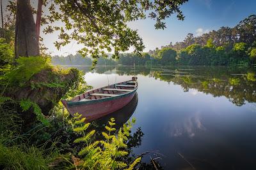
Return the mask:
<path fill-rule="evenodd" d="M 1 169 L 51 169 L 51 163 L 60 156 L 58 150 L 53 146 L 28 146 L 27 135 L 20 134 L 22 120 L 13 108 L 16 102 L 9 97 L 1 97 L 1 101 L 4 101 L 0 105 Z"/>

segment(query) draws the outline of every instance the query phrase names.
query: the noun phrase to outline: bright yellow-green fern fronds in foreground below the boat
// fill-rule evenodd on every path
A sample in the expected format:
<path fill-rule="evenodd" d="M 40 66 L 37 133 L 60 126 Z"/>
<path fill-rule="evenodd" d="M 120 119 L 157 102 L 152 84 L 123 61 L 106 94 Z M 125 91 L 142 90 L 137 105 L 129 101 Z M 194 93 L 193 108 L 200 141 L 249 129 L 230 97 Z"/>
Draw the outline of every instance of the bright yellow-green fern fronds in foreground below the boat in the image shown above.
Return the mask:
<path fill-rule="evenodd" d="M 81 149 L 78 155 L 83 156 L 83 160 L 74 161 L 74 166 L 83 167 L 84 169 L 133 169 L 136 164 L 141 160 L 140 157 L 136 158 L 130 165 L 122 162 L 120 158 L 128 155 L 125 151 L 127 148 L 127 140 L 130 136 L 132 124 L 135 120 L 132 119 L 132 123 L 128 122 L 124 124 L 115 134 L 116 129 L 115 119 L 111 118 L 106 125 L 106 132 L 102 132 L 104 140 L 93 141 L 93 135 L 95 130 L 86 132 L 90 123 L 84 124 L 85 118 L 81 118 L 81 115 L 76 113 L 74 121 L 72 122 L 73 131 L 82 134 L 81 138 L 75 139 L 74 143 L 86 143 L 86 146 Z"/>

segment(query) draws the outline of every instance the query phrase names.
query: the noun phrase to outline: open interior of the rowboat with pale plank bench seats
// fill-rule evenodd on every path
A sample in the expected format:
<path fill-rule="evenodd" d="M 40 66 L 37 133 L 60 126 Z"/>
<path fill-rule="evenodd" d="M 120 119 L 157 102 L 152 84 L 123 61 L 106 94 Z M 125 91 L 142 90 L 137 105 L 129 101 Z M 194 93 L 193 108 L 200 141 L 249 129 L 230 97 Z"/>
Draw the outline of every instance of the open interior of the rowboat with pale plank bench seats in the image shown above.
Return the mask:
<path fill-rule="evenodd" d="M 137 87 L 137 83 L 134 80 L 124 81 L 122 83 L 117 83 L 114 85 L 108 85 L 99 89 L 91 90 L 85 92 L 79 96 L 76 96 L 72 101 L 88 101 L 97 100 L 106 97 L 115 97 L 128 92 L 132 92 Z"/>

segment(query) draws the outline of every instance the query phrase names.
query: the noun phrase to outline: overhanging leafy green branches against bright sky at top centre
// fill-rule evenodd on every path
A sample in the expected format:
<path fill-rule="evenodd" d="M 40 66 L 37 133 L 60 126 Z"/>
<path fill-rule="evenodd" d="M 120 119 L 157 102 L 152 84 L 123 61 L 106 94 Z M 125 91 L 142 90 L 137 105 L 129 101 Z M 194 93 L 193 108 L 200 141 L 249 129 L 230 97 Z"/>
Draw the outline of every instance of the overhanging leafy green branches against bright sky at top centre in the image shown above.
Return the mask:
<path fill-rule="evenodd" d="M 177 18 L 184 20 L 179 6 L 188 0 L 170 1 L 52 1 L 49 7 L 51 15 L 45 17 L 48 24 L 45 33 L 60 32 L 59 41 L 54 44 L 59 49 L 71 40 L 76 40 L 84 47 L 79 50 L 83 56 L 97 59 L 100 55 L 106 57 L 106 52 L 113 51 L 113 58 L 118 58 L 119 52 L 134 47 L 134 52 L 143 51 L 143 41 L 136 30 L 127 23 L 145 19 L 156 20 L 156 29 L 166 27 L 163 20 L 177 13 Z M 93 5 L 92 5 L 93 4 Z M 147 16 L 148 15 L 148 16 Z M 64 27 L 51 25 L 62 21 Z M 83 33 L 81 33 L 83 32 Z"/>

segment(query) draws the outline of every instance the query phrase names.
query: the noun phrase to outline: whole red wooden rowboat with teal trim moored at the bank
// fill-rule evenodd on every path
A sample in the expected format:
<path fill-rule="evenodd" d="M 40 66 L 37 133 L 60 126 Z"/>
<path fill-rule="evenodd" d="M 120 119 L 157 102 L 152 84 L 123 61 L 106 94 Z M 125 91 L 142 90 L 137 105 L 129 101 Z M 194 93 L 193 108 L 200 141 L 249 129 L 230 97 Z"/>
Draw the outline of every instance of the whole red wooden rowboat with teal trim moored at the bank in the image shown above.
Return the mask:
<path fill-rule="evenodd" d="M 88 122 L 120 110 L 134 97 L 138 88 L 136 77 L 132 80 L 90 90 L 70 101 L 61 100 L 70 115 L 79 113 Z"/>

